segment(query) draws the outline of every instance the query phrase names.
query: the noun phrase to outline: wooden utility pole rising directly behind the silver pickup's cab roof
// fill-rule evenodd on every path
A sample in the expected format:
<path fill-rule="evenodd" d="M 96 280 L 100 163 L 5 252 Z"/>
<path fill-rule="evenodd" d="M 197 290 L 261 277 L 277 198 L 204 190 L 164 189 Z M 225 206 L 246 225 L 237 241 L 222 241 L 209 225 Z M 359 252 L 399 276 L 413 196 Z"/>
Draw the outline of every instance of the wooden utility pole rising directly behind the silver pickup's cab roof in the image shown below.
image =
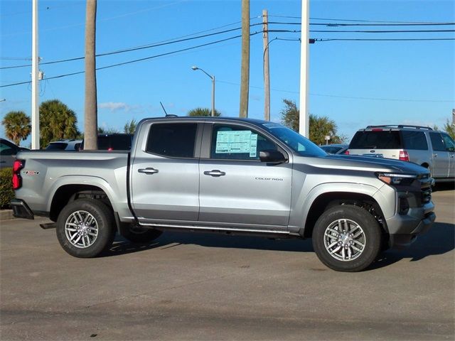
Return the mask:
<path fill-rule="evenodd" d="M 250 95 L 250 0 L 242 0 L 242 67 L 240 77 L 240 117 L 248 117 Z"/>

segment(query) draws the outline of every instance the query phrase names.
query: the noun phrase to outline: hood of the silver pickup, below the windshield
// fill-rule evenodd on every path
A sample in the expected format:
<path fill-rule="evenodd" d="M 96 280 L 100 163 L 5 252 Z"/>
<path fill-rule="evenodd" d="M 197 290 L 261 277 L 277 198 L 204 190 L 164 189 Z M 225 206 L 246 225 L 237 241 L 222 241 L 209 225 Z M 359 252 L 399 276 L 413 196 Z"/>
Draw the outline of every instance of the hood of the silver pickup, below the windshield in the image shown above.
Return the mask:
<path fill-rule="evenodd" d="M 297 156 L 294 162 L 309 163 L 308 158 L 300 156 Z M 369 156 L 328 155 L 311 158 L 311 163 L 309 164 L 319 168 L 345 169 L 349 171 L 372 171 L 415 175 L 429 173 L 427 168 L 415 163 L 394 160 L 391 158 L 373 158 Z"/>

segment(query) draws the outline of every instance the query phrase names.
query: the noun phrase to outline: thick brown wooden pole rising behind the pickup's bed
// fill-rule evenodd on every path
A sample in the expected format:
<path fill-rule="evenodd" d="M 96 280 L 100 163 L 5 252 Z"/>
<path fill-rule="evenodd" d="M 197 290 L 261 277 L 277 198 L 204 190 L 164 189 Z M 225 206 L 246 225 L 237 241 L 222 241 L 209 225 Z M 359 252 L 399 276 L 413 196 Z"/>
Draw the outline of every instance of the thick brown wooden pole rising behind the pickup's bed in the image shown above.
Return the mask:
<path fill-rule="evenodd" d="M 97 0 L 87 0 L 85 13 L 85 121 L 84 149 L 96 150 L 97 142 L 97 75 L 95 61 Z"/>

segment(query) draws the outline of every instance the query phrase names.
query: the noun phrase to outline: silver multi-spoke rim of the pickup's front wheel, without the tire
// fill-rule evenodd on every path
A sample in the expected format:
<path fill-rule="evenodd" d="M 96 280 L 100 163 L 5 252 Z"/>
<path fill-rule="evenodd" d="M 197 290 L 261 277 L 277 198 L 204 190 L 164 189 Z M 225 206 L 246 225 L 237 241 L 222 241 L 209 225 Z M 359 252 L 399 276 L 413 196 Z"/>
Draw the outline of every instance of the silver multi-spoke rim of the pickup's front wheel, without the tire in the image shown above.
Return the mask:
<path fill-rule="evenodd" d="M 324 232 L 324 247 L 338 261 L 353 261 L 365 250 L 366 236 L 362 227 L 350 219 L 332 222 Z"/>

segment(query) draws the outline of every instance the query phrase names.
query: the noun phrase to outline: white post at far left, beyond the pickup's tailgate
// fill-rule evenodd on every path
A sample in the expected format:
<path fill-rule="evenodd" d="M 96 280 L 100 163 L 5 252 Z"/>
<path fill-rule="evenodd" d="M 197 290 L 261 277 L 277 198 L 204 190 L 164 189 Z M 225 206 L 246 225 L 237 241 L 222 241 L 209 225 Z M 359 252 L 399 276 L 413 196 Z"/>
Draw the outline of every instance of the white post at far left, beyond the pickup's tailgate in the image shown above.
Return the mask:
<path fill-rule="evenodd" d="M 31 148 L 40 148 L 40 114 L 38 103 L 38 0 L 32 5 L 32 49 L 31 49 Z"/>

